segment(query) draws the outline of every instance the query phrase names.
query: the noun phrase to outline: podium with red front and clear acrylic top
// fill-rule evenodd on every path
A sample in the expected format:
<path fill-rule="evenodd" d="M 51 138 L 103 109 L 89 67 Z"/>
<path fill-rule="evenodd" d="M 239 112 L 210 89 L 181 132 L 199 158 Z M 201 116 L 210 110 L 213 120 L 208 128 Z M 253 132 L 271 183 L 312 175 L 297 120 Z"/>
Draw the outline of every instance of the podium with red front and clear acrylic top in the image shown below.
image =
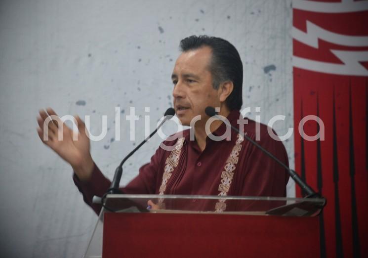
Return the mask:
<path fill-rule="evenodd" d="M 85 258 L 320 256 L 325 199 L 114 194 L 104 203 Z"/>

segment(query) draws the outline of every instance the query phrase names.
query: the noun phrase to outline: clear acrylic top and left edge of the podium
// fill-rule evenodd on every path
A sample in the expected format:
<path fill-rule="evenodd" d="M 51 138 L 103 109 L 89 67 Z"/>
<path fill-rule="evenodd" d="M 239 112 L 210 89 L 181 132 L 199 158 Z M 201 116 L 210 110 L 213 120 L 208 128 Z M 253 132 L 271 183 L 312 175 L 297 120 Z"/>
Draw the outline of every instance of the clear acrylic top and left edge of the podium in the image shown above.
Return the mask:
<path fill-rule="evenodd" d="M 148 207 L 148 201 L 155 205 Z M 109 212 L 316 216 L 325 204 L 320 198 L 111 194 L 105 199 L 106 209 L 101 210 L 84 257 L 102 257 L 103 216 Z"/>

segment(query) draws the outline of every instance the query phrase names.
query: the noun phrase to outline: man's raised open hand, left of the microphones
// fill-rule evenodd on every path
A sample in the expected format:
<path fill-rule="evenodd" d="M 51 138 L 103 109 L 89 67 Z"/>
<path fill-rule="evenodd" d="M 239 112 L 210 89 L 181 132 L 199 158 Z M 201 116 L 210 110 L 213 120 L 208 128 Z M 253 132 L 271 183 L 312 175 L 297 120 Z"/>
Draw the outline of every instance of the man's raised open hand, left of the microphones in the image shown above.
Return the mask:
<path fill-rule="evenodd" d="M 81 118 L 79 116 L 74 117 L 79 132 L 76 135 L 78 139 L 73 139 L 73 130 L 61 121 L 55 111 L 47 108 L 46 111 L 40 110 L 39 113 L 37 132 L 41 141 L 68 162 L 79 179 L 87 180 L 91 176 L 94 163 L 89 151 L 88 132 Z M 45 139 L 44 135 L 46 136 Z"/>

